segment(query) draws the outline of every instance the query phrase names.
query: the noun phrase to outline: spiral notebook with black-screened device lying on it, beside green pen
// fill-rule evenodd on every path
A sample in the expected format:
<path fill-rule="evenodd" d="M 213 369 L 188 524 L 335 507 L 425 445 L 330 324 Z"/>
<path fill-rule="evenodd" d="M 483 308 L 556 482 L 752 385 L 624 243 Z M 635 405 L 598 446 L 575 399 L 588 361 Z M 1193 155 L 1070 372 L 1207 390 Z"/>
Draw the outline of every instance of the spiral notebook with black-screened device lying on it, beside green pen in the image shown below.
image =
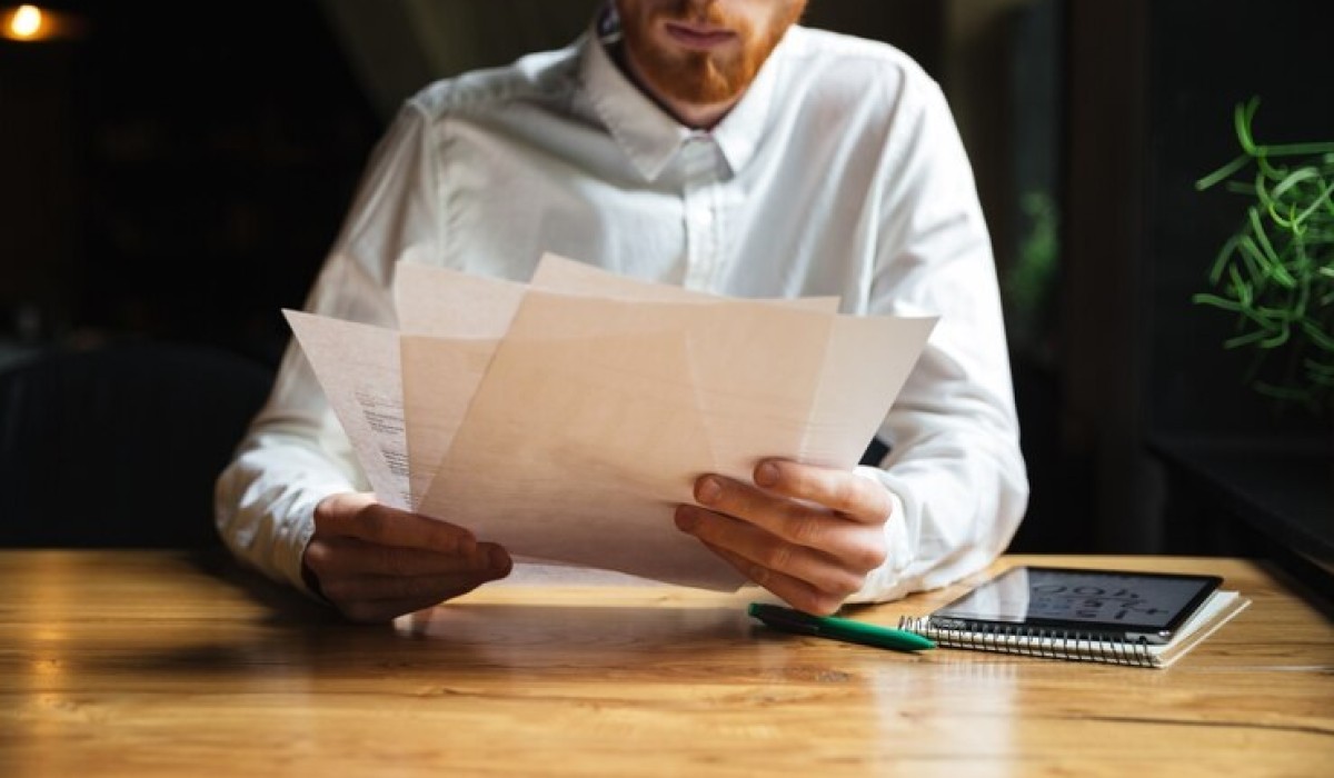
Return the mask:
<path fill-rule="evenodd" d="M 1167 667 L 1250 605 L 1215 575 L 1013 567 L 899 629 L 944 647 Z"/>

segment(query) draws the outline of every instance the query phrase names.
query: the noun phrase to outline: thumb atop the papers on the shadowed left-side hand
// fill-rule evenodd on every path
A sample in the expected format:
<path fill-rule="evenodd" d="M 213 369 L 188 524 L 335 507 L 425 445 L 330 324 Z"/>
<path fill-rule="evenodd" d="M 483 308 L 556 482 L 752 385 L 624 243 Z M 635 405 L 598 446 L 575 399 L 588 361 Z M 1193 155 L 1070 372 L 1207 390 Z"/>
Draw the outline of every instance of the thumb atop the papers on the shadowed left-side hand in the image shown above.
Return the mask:
<path fill-rule="evenodd" d="M 359 538 L 380 546 L 470 554 L 476 538 L 468 530 L 374 502 L 367 495 L 335 495 L 315 508 L 315 531 Z"/>

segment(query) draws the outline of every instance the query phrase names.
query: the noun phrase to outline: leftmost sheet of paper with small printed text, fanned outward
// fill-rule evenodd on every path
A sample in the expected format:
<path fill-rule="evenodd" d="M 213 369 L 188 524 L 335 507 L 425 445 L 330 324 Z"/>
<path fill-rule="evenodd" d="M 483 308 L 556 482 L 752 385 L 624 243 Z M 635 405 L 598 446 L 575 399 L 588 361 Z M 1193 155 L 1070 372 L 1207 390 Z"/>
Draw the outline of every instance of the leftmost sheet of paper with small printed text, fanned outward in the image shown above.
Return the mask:
<path fill-rule="evenodd" d="M 283 311 L 380 502 L 408 507 L 399 334 Z"/>

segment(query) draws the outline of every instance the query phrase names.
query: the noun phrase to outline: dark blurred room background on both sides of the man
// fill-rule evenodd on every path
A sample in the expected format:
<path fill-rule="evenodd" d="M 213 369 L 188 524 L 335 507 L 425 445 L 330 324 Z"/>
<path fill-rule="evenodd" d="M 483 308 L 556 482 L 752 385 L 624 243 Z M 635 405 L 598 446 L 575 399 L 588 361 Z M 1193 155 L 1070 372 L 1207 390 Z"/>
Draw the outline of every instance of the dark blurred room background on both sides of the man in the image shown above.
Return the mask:
<path fill-rule="evenodd" d="M 280 308 L 300 307 L 414 80 L 564 43 L 592 3 L 442 3 L 451 27 L 418 49 L 398 44 L 420 24 L 406 4 L 355 5 L 63 0 L 81 37 L 0 40 L 0 366 L 147 340 L 272 368 Z M 812 27 L 888 40 L 942 81 L 1003 283 L 1037 230 L 1025 196 L 1054 206 L 1057 266 L 1027 308 L 1007 296 L 1034 490 L 1015 550 L 1263 552 L 1237 520 L 1273 500 L 1238 510 L 1181 451 L 1327 462 L 1327 419 L 1257 398 L 1221 348 L 1231 323 L 1189 300 L 1242 214 L 1191 185 L 1235 155 L 1233 107 L 1262 96 L 1273 143 L 1334 140 L 1330 8 L 811 3 Z M 1297 510 L 1327 538 L 1330 468 L 1302 472 L 1258 490 L 1310 492 Z"/>

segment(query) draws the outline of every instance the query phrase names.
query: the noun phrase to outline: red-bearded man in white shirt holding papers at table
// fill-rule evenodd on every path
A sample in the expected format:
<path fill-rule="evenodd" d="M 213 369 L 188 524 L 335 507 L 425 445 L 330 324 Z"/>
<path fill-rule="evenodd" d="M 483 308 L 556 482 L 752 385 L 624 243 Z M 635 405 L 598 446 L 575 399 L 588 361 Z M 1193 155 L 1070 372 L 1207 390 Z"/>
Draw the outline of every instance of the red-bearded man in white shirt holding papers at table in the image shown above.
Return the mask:
<path fill-rule="evenodd" d="M 552 251 L 734 296 L 838 295 L 940 322 L 882 467 L 704 474 L 676 526 L 818 614 L 990 563 L 1027 499 L 995 270 L 939 88 L 896 49 L 795 24 L 804 0 L 615 0 L 575 45 L 428 87 L 380 141 L 308 310 L 392 326 L 396 262 L 528 280 Z M 243 559 L 356 621 L 511 570 L 484 527 L 364 494 L 289 348 L 217 484 Z M 440 520 L 444 519 L 444 520 Z"/>

